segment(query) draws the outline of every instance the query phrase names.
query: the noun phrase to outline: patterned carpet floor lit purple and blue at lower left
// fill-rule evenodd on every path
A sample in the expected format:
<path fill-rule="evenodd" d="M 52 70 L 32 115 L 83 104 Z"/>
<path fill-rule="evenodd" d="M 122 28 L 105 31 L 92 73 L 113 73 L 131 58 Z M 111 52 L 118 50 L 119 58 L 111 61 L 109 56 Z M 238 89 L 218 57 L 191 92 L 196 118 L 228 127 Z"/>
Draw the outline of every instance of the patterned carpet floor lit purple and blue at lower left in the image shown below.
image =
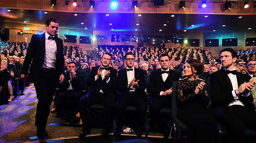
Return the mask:
<path fill-rule="evenodd" d="M 33 141 L 31 137 L 36 136 L 35 113 L 37 98 L 34 85 L 25 88 L 25 95 L 18 96 L 9 105 L 0 106 L 0 143 Z M 53 102 L 52 102 L 53 106 Z M 63 118 L 55 118 L 56 113 L 50 113 L 46 131 L 47 139 L 78 136 L 81 127 L 74 127 Z M 57 124 L 54 124 L 57 123 Z M 49 125 L 50 124 L 50 125 Z M 101 129 L 91 130 L 91 134 L 101 133 Z M 100 126 L 99 126 L 100 128 Z M 135 134 L 131 132 L 130 134 Z M 149 135 L 161 136 L 159 133 L 149 133 Z M 30 139 L 31 138 L 31 139 Z"/>

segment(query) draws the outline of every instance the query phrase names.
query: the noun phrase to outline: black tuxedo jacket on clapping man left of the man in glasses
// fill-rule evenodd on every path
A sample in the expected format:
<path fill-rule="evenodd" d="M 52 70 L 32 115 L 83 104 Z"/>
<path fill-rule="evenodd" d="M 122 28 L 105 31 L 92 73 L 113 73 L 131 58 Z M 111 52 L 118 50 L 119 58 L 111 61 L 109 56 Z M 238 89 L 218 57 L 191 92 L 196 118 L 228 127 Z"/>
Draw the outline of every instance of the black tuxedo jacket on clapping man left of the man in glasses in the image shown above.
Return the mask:
<path fill-rule="evenodd" d="M 110 70 L 110 80 L 107 83 L 106 78 L 102 80 L 101 76 L 95 81 L 95 75 L 97 75 L 100 66 L 92 67 L 89 77 L 87 79 L 87 85 L 90 94 L 95 94 L 103 91 L 103 93 L 115 97 L 116 87 L 117 87 L 117 70 L 109 67 Z"/>

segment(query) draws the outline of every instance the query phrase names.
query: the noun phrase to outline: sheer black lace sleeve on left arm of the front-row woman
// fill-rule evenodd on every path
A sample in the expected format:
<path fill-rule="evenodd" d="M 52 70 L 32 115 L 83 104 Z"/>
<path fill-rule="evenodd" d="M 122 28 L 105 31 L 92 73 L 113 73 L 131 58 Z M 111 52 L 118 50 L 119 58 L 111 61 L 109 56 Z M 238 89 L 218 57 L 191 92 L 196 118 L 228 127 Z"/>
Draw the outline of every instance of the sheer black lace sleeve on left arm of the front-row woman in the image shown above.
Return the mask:
<path fill-rule="evenodd" d="M 176 89 L 177 103 L 187 102 L 195 97 L 195 92 L 189 88 L 182 81 L 178 81 Z"/>

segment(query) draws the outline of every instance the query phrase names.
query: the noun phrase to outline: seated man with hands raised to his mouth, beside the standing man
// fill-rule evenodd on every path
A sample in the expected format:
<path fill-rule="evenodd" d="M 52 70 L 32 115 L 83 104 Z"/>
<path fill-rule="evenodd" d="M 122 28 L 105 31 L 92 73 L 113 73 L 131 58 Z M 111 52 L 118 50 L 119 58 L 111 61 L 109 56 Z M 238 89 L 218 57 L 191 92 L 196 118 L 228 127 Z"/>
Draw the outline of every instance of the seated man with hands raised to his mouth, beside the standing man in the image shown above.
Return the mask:
<path fill-rule="evenodd" d="M 86 74 L 86 73 L 85 73 Z M 84 75 L 77 72 L 77 64 L 69 63 L 69 72 L 65 73 L 65 80 L 60 83 L 62 93 L 56 99 L 57 115 L 61 115 L 62 107 L 66 107 L 70 117 L 73 117 L 76 111 L 78 101 L 81 99 L 84 87 Z"/>

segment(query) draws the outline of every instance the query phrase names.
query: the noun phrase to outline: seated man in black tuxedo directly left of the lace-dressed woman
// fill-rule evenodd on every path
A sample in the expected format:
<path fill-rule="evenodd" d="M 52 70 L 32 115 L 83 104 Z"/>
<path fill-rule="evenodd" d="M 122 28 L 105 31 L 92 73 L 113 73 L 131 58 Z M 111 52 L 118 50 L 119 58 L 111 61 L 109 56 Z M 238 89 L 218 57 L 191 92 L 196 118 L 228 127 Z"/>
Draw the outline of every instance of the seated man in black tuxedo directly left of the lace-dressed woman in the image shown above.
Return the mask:
<path fill-rule="evenodd" d="M 163 107 L 171 108 L 172 84 L 179 80 L 179 76 L 177 72 L 169 69 L 170 57 L 168 54 L 162 53 L 159 56 L 159 61 L 161 69 L 153 70 L 148 82 L 148 93 L 150 97 L 149 111 L 152 115 L 153 122 L 154 119 L 157 119 L 159 123 L 163 123 L 161 121 L 162 118 L 159 117 L 159 111 Z M 165 131 L 167 129 L 165 126 Z"/>

